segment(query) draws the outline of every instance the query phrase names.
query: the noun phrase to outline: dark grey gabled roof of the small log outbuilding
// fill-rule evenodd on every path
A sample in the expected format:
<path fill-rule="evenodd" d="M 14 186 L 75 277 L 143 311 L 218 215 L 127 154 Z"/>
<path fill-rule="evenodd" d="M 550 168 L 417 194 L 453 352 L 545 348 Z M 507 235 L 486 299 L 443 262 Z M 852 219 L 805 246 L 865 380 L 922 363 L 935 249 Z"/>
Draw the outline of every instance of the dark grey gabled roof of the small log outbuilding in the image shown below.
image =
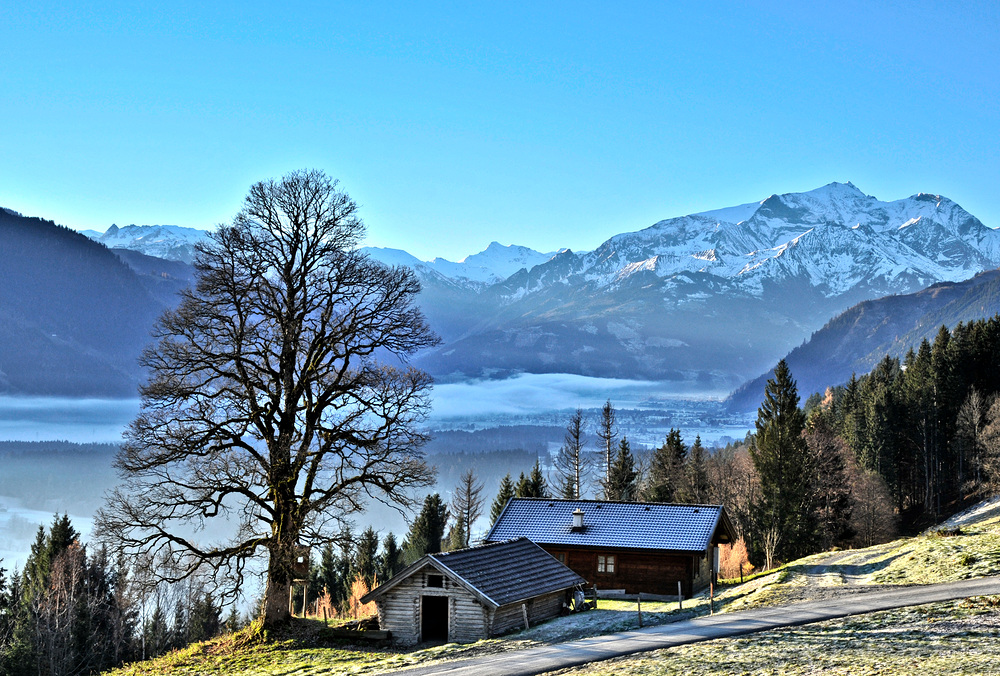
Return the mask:
<path fill-rule="evenodd" d="M 586 583 L 531 540 L 517 538 L 453 552 L 428 554 L 368 592 L 362 597 L 362 602 L 368 603 L 381 596 L 427 565 L 455 580 L 485 603 L 498 608 Z"/>

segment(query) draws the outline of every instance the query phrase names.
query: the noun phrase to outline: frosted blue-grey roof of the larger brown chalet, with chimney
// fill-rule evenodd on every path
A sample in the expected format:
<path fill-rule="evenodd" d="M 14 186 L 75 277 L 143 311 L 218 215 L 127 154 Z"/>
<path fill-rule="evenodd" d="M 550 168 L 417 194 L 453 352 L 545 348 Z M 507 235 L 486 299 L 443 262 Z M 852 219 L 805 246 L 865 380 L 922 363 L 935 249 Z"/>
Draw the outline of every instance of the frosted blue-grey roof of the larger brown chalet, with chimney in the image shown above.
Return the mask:
<path fill-rule="evenodd" d="M 573 512 L 584 512 L 574 532 Z M 511 498 L 487 542 L 526 537 L 544 545 L 703 552 L 714 541 L 731 542 L 733 529 L 721 505 Z"/>

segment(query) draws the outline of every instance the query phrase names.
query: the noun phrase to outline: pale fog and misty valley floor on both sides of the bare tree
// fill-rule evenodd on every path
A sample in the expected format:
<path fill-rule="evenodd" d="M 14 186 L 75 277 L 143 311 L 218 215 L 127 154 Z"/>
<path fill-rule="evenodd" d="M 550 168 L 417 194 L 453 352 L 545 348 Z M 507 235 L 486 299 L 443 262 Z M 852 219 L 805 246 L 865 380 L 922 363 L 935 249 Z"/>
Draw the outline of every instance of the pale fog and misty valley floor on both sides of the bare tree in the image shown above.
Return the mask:
<path fill-rule="evenodd" d="M 427 420 L 433 438 L 425 448 L 438 469 L 437 483 L 414 497 L 420 501 L 436 491 L 448 502 L 461 474 L 471 468 L 492 501 L 505 474 L 516 480 L 536 459 L 555 483 L 549 454 L 562 443 L 569 415 L 584 410 L 594 450 L 594 426 L 607 400 L 617 410 L 619 433 L 640 452 L 662 443 L 671 427 L 689 442 L 700 434 L 706 445 L 743 439 L 752 420 L 725 413 L 720 397 L 671 391 L 661 383 L 568 374 L 439 383 Z M 138 399 L 0 397 L 0 567 L 22 566 L 39 525 L 48 527 L 54 514 L 68 514 L 90 538 L 93 514 L 117 483 L 116 444 L 138 410 Z M 382 536 L 391 531 L 402 540 L 412 516 L 372 504 L 352 520 L 355 531 L 372 525 Z M 485 535 L 487 518 L 473 528 L 474 538 Z"/>

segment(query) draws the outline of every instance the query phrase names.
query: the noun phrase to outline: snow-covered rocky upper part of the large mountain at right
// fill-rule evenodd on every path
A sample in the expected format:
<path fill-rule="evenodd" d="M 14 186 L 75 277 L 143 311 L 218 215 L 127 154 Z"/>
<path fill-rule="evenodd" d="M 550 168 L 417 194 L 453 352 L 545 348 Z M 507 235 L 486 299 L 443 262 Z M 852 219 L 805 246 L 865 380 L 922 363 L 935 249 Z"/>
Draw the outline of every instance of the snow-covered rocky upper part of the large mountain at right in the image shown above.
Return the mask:
<path fill-rule="evenodd" d="M 831 183 L 660 221 L 577 259 L 575 274 L 599 288 L 652 275 L 674 303 L 702 299 L 687 293 L 697 287 L 762 297 L 789 281 L 834 298 L 859 287 L 915 291 L 967 279 L 1000 264 L 1000 233 L 946 197 L 880 202 L 851 183 Z M 511 297 L 532 290 L 516 287 Z"/>

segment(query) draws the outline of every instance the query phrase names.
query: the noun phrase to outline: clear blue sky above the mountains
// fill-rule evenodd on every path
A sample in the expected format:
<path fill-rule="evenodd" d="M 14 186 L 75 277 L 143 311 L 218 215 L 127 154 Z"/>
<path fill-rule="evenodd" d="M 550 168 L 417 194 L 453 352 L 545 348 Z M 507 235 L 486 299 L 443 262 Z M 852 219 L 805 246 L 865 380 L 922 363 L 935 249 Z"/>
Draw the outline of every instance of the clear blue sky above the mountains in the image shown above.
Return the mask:
<path fill-rule="evenodd" d="M 806 7 L 809 5 L 809 7 Z M 1000 226 L 1000 3 L 0 0 L 0 205 L 211 227 L 341 179 L 369 243 L 590 249 L 853 181 Z"/>

